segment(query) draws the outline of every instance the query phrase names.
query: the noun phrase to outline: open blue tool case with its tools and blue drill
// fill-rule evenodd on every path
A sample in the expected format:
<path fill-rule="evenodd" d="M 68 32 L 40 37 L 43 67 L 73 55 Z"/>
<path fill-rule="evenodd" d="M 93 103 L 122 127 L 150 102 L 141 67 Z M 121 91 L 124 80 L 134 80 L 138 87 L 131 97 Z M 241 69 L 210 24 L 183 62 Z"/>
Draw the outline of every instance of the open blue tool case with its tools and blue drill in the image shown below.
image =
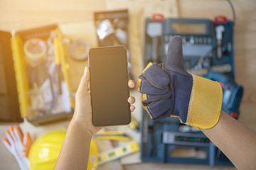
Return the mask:
<path fill-rule="evenodd" d="M 224 16 L 214 21 L 193 18 L 146 18 L 144 67 L 149 62 L 164 63 L 169 40 L 180 35 L 186 70 L 214 81 L 223 88 L 222 109 L 238 118 L 242 86 L 235 84 L 233 22 Z M 233 165 L 206 135 L 180 123 L 178 118 L 151 120 L 142 111 L 142 162 L 176 164 Z"/>

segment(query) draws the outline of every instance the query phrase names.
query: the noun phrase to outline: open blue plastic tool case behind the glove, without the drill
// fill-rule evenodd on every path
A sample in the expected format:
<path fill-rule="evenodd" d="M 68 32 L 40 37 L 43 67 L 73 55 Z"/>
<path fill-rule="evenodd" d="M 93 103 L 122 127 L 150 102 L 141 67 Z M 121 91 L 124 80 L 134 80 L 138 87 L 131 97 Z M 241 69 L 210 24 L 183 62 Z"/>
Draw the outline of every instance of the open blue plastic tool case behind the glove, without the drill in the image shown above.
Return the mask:
<path fill-rule="evenodd" d="M 154 24 L 156 26 L 149 26 Z M 224 27 L 224 31 L 221 32 L 222 40 L 220 41 L 222 56 L 221 58 L 218 58 L 216 27 L 220 25 L 221 27 Z M 203 30 L 199 31 L 196 26 L 203 28 Z M 151 35 L 150 32 L 154 31 L 148 30 L 150 27 L 154 29 L 158 28 L 160 30 L 156 30 L 156 32 L 158 32 L 156 35 Z M 190 31 L 190 28 L 192 27 L 196 29 L 194 29 L 194 31 Z M 178 28 L 183 30 L 179 31 Z M 180 35 L 183 39 L 183 55 L 187 70 L 194 69 L 203 57 L 208 60 L 210 67 L 221 67 L 224 64 L 228 64 L 229 69 L 225 70 L 222 75 L 231 77 L 230 79 L 234 80 L 232 21 L 215 23 L 208 19 L 167 18 L 152 20 L 151 18 L 147 18 L 144 30 L 144 67 L 146 67 L 149 62 L 165 62 L 167 45 L 171 37 L 174 35 Z M 155 40 L 155 38 L 157 38 L 157 40 Z M 193 39 L 193 41 L 191 39 Z M 195 51 L 199 53 L 194 53 Z M 158 59 L 154 59 L 154 57 L 158 57 Z M 202 76 L 207 75 L 208 74 L 203 74 Z M 237 88 L 237 86 L 235 86 L 235 88 Z M 240 95 L 239 100 L 241 98 L 242 94 Z M 236 110 L 239 109 L 239 105 L 240 101 L 238 108 L 235 108 Z M 228 110 L 225 111 L 228 113 Z M 203 135 L 203 132 L 181 132 L 179 130 L 181 125 L 182 124 L 179 123 L 178 118 L 151 120 L 146 111 L 143 110 L 141 125 L 142 162 L 206 164 L 209 166 L 218 164 L 233 166 L 218 147 L 215 147 L 213 142 L 210 142 L 210 140 Z M 183 155 L 184 157 L 177 157 L 176 154 L 173 154 L 176 149 L 186 150 L 191 148 L 196 153 L 193 157 L 188 155 Z M 198 156 L 198 153 L 203 153 L 203 157 Z"/>

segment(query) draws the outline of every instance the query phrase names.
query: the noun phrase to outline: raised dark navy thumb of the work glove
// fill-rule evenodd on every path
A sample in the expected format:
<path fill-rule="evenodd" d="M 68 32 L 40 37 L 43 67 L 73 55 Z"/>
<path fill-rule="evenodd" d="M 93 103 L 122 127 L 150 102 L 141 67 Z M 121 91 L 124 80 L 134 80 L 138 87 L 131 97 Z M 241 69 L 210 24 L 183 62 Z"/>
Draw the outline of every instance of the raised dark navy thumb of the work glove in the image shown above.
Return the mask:
<path fill-rule="evenodd" d="M 174 36 L 171 38 L 164 67 L 172 72 L 176 72 L 187 77 L 182 52 L 182 39 L 180 36 Z"/>

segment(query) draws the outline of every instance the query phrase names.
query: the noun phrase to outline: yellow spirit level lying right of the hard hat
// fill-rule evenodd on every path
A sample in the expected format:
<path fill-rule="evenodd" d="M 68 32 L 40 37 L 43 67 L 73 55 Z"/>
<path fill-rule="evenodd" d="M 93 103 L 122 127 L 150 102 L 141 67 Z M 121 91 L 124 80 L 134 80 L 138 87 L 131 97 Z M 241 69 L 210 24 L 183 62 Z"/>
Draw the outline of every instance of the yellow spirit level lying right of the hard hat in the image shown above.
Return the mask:
<path fill-rule="evenodd" d="M 119 159 L 135 152 L 139 152 L 138 142 L 129 142 L 127 145 L 114 147 L 113 149 L 107 150 L 98 155 L 98 165 L 114 161 L 115 159 Z"/>

